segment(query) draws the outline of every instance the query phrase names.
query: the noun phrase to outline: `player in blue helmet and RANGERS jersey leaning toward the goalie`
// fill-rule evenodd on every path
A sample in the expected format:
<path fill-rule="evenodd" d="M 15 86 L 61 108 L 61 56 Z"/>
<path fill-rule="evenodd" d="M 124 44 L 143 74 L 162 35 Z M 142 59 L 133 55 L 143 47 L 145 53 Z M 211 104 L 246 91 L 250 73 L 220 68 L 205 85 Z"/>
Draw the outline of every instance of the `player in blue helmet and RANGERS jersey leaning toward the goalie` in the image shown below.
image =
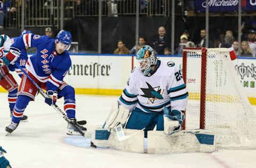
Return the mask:
<path fill-rule="evenodd" d="M 45 89 L 50 98 L 45 99 L 45 103 L 54 105 L 57 98 L 63 97 L 64 110 L 68 118 L 82 130 L 86 128 L 77 124 L 75 119 L 75 90 L 68 85 L 63 78 L 71 66 L 70 56 L 67 49 L 71 45 L 71 34 L 61 30 L 55 39 L 47 36 L 39 36 L 28 33 L 19 37 L 6 54 L 6 60 L 13 64 L 20 56 L 20 49 L 25 47 L 37 47 L 36 55 L 28 58 L 26 71 L 28 75 Z M 13 132 L 19 125 L 21 116 L 30 100 L 35 99 L 38 89 L 24 74 L 19 85 L 19 95 L 14 106 L 12 122 L 5 130 Z M 68 123 L 68 135 L 78 135 L 73 125 Z"/>

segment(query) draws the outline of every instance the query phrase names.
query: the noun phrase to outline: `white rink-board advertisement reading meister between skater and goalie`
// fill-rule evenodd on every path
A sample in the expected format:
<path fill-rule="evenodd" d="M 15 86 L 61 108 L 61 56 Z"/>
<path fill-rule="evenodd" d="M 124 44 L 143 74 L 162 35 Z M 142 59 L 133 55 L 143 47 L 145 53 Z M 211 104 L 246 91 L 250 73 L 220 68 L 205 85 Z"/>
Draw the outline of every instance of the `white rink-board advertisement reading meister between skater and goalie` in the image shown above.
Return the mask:
<path fill-rule="evenodd" d="M 131 57 L 71 55 L 65 81 L 75 88 L 123 89 L 131 72 Z"/>

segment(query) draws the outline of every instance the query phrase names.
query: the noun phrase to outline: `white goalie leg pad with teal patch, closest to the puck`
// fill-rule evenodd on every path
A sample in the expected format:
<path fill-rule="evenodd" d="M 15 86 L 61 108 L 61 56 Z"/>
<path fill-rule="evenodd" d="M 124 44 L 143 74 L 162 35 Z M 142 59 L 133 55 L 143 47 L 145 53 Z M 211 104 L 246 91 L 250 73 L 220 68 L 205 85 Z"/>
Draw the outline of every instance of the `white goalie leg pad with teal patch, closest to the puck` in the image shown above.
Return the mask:
<path fill-rule="evenodd" d="M 125 152 L 144 153 L 144 131 L 123 129 L 124 135 L 129 137 L 118 140 L 114 129 L 103 129 L 100 125 L 92 133 L 93 145 L 100 148 L 113 148 Z"/>

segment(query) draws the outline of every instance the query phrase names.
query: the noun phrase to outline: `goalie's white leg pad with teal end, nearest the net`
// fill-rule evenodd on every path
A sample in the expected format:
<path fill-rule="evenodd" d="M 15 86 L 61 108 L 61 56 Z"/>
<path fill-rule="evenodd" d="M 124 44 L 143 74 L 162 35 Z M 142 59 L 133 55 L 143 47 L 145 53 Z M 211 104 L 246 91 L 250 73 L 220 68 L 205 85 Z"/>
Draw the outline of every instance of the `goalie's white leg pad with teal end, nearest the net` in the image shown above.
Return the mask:
<path fill-rule="evenodd" d="M 207 130 L 182 130 L 165 135 L 164 131 L 148 131 L 148 153 L 170 154 L 188 152 L 214 152 L 216 137 Z"/>

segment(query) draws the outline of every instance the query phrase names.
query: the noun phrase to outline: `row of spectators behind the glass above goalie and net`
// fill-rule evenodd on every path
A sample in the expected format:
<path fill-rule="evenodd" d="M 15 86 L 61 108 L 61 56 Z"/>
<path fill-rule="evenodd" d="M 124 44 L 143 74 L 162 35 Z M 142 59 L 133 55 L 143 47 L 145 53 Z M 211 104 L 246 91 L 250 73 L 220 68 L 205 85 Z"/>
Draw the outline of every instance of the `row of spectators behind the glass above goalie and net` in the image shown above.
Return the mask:
<path fill-rule="evenodd" d="M 201 39 L 199 41 L 191 41 L 188 30 L 184 30 L 180 36 L 180 43 L 175 48 L 174 55 L 182 55 L 184 47 L 205 47 L 206 31 L 202 29 L 200 31 Z M 163 26 L 158 28 L 158 35 L 150 41 L 147 41 L 145 37 L 139 37 L 139 45 L 132 47 L 130 50 L 125 47 L 124 41 L 118 40 L 117 48 L 114 54 L 135 54 L 141 47 L 150 45 L 155 50 L 157 55 L 170 55 L 170 43 L 166 37 L 166 30 Z M 241 45 L 241 51 L 239 51 L 239 45 Z M 241 57 L 256 57 L 256 21 L 253 22 L 252 28 L 245 31 L 241 44 L 235 39 L 233 31 L 226 30 L 226 33 L 221 33 L 216 39 L 209 39 L 209 48 L 233 48 L 237 56 Z"/>

